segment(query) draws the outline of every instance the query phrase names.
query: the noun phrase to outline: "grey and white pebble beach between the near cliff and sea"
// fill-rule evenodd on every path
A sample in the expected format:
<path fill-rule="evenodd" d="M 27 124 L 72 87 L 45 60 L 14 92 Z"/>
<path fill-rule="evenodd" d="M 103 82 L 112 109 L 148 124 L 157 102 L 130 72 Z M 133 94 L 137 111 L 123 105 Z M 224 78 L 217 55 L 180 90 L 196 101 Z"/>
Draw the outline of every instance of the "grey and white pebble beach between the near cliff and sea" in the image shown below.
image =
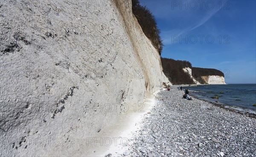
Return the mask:
<path fill-rule="evenodd" d="M 193 97 L 186 100 L 183 94 L 176 86 L 160 91 L 119 156 L 256 156 L 255 118 Z"/>

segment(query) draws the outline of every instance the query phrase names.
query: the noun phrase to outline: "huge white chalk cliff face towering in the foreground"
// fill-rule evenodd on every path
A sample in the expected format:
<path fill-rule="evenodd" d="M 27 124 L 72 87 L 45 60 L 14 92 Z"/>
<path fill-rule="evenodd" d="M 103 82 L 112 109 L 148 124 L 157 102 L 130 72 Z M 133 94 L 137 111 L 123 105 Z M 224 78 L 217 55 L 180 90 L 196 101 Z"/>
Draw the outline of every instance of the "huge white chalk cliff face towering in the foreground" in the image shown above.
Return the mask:
<path fill-rule="evenodd" d="M 85 155 L 168 82 L 131 0 L 4 1 L 0 42 L 0 156 Z"/>

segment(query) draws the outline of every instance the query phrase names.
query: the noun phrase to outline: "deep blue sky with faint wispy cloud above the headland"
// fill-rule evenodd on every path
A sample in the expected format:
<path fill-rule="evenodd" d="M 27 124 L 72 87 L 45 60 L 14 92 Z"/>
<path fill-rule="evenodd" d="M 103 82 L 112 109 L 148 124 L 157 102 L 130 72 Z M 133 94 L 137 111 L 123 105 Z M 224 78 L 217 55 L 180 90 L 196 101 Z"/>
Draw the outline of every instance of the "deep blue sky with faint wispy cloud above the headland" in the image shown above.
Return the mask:
<path fill-rule="evenodd" d="M 214 68 L 231 83 L 256 83 L 255 0 L 140 0 L 154 14 L 162 57 Z"/>

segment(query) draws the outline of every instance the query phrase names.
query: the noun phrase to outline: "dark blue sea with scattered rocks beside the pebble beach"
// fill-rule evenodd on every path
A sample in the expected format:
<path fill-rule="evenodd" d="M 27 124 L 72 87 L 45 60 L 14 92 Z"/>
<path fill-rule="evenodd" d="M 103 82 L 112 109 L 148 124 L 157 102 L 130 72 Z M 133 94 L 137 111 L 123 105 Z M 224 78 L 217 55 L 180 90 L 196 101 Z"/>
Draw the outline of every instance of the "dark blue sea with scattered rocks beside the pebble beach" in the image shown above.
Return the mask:
<path fill-rule="evenodd" d="M 212 84 L 183 87 L 198 99 L 256 114 L 256 84 Z M 215 97 L 215 99 L 213 99 Z M 216 99 L 218 97 L 218 99 Z"/>

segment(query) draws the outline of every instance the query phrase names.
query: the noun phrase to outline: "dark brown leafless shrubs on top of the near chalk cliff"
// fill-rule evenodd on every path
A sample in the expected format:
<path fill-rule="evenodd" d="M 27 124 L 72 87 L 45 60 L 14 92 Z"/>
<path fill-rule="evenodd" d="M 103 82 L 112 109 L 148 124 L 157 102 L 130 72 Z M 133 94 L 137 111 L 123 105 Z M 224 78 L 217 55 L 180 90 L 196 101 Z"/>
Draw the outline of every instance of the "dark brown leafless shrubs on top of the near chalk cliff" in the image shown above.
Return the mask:
<path fill-rule="evenodd" d="M 139 0 L 131 0 L 131 3 L 132 12 L 137 18 L 144 34 L 151 40 L 152 44 L 161 55 L 163 40 L 160 37 L 160 29 L 157 28 L 154 15 L 145 6 L 141 6 Z"/>

